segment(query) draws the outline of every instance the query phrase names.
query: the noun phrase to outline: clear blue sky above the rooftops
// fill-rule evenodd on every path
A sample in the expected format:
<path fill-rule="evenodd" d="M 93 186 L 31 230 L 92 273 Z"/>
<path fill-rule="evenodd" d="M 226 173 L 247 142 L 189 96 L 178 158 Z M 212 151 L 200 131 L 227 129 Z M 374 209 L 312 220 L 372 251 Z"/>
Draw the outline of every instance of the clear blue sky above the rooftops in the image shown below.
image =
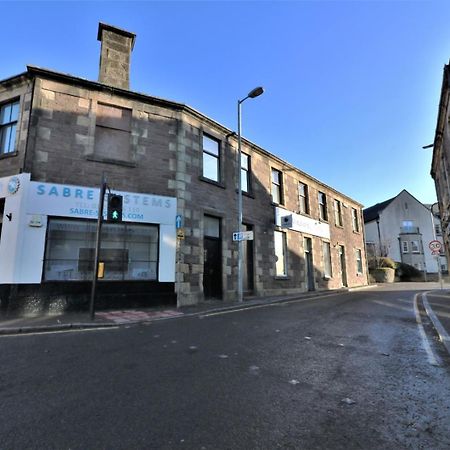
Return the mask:
<path fill-rule="evenodd" d="M 181 103 L 366 207 L 431 179 L 448 1 L 2 2 L 0 79 L 34 64 L 96 80 L 98 22 L 136 33 L 131 88 Z M 5 17 L 15 20 L 4 20 Z"/>

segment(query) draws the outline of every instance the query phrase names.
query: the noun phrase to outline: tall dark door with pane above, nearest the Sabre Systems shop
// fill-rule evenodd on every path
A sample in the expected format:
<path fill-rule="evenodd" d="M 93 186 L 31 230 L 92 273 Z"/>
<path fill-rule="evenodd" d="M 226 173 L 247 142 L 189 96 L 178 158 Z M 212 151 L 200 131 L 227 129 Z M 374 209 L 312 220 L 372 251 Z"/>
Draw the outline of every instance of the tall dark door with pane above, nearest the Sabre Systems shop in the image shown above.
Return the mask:
<path fill-rule="evenodd" d="M 204 218 L 203 293 L 205 298 L 222 298 L 222 239 L 220 219 Z"/>

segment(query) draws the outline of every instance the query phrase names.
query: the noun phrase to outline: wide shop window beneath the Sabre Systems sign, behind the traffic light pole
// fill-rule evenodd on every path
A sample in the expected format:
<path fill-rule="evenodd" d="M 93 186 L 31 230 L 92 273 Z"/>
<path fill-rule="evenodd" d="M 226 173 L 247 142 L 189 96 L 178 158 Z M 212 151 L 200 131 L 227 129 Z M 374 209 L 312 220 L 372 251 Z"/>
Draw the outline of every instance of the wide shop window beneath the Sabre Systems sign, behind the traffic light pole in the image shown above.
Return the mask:
<path fill-rule="evenodd" d="M 96 222 L 49 220 L 44 279 L 92 280 Z M 157 280 L 157 225 L 103 224 L 99 261 L 105 280 Z"/>

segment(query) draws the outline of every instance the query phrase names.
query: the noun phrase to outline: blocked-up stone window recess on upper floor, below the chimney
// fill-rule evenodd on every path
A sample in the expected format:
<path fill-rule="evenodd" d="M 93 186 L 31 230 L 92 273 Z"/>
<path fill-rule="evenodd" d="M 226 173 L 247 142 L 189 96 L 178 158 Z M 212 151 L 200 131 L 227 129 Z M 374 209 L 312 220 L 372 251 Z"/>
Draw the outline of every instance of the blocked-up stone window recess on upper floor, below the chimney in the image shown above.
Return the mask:
<path fill-rule="evenodd" d="M 131 110 L 99 103 L 95 125 L 95 156 L 130 162 Z"/>

